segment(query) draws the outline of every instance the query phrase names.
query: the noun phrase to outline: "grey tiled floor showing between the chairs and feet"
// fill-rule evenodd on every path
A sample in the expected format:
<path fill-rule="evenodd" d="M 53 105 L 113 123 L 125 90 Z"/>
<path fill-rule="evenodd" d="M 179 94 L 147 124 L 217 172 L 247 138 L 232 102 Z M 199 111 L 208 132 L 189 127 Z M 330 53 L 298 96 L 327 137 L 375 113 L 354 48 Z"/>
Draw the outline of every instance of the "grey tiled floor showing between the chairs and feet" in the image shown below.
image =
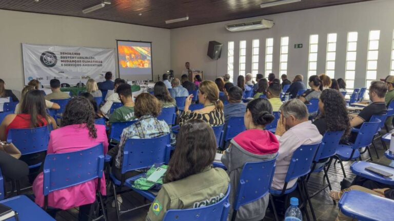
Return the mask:
<path fill-rule="evenodd" d="M 383 150 L 381 142 L 379 140 L 376 140 L 375 143 L 378 147 L 380 159 L 376 158 L 375 151 L 372 150 L 373 161 L 388 165 L 390 163 L 390 161 L 384 157 L 384 154 L 383 154 L 384 150 Z M 364 158 L 365 159 L 367 158 L 366 153 L 363 155 L 363 159 Z M 344 162 L 346 175 L 347 175 L 347 177 L 350 177 L 350 178 L 354 177 L 354 175 L 351 173 L 351 171 L 349 169 L 349 166 L 351 165 L 351 163 L 352 162 Z M 341 166 L 338 163 L 335 166 L 333 166 L 333 164 L 332 164 L 329 171 L 328 171 L 328 174 L 329 174 L 329 179 L 330 179 L 332 188 L 334 190 L 340 190 L 340 182 L 343 179 Z M 325 181 L 323 182 L 323 171 L 319 172 L 319 173 L 312 174 L 309 179 L 309 182 L 308 182 L 308 188 L 309 188 L 310 194 L 313 193 L 314 191 L 316 191 L 316 189 L 321 184 L 325 184 L 325 183 L 326 183 Z M 31 193 L 31 190 L 27 190 L 26 193 Z M 112 194 L 112 191 L 109 190 L 108 193 Z M 330 199 L 328 193 L 329 193 L 329 189 L 326 188 L 324 191 L 320 192 L 319 194 L 317 194 L 316 196 L 314 196 L 312 198 L 312 205 L 313 205 L 314 211 L 316 213 L 316 217 L 318 220 L 321 220 L 321 221 L 334 220 L 338 214 L 338 206 L 333 205 L 333 202 Z M 136 194 L 135 192 L 125 193 L 122 195 L 122 198 L 123 198 L 123 203 L 121 206 L 121 210 L 128 210 L 128 209 L 139 207 L 139 206 L 142 206 L 145 204 L 144 198 L 141 195 Z M 109 220 L 116 220 L 116 211 L 111 207 L 112 200 L 113 200 L 113 197 L 107 198 L 108 217 L 109 217 Z M 143 208 L 140 208 L 140 209 L 128 212 L 128 213 L 124 213 L 121 216 L 121 220 L 143 221 L 143 220 L 145 220 L 145 216 L 146 216 L 148 209 L 149 209 L 149 206 L 146 206 L 146 207 L 143 207 Z M 60 211 L 56 214 L 56 220 L 59 220 L 59 221 L 77 220 L 77 214 L 78 214 L 77 209 Z M 310 214 L 310 212 L 309 212 L 309 214 Z M 310 214 L 310 217 L 311 217 L 311 214 Z M 273 214 L 269 210 L 267 210 L 266 217 L 264 218 L 264 220 L 274 220 Z"/>

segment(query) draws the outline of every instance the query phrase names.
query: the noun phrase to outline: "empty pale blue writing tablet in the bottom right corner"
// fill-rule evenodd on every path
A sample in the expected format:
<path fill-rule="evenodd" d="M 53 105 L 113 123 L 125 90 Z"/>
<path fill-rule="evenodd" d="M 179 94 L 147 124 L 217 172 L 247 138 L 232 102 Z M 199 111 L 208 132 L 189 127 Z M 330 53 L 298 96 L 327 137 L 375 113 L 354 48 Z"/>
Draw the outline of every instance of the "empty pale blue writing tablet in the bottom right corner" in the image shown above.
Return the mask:
<path fill-rule="evenodd" d="M 343 214 L 360 221 L 392 220 L 394 201 L 381 196 L 351 190 L 339 201 Z"/>

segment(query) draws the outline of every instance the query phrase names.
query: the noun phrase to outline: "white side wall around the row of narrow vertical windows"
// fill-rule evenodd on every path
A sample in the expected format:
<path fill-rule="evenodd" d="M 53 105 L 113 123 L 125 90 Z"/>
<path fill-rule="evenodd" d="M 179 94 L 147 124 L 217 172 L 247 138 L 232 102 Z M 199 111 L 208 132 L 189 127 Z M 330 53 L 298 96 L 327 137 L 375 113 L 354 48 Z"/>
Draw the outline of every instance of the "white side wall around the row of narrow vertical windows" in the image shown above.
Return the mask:
<path fill-rule="evenodd" d="M 213 80 L 227 72 L 227 42 L 234 41 L 234 79 L 239 69 L 239 41 L 247 40 L 246 73 L 251 72 L 252 39 L 260 39 L 259 73 L 264 73 L 265 39 L 274 38 L 273 72 L 279 73 L 280 38 L 289 36 L 288 75 L 307 75 L 309 35 L 319 34 L 318 74 L 325 72 L 328 33 L 338 33 L 335 78 L 345 77 L 347 32 L 359 33 L 356 87 L 365 86 L 366 54 L 369 30 L 381 30 L 379 44 L 378 79 L 389 73 L 394 23 L 394 1 L 377 0 L 356 4 L 309 9 L 255 18 L 273 20 L 275 26 L 268 30 L 229 32 L 225 25 L 240 20 L 225 21 L 171 30 L 171 68 L 180 76 L 186 61 L 194 69 L 204 71 L 205 79 Z M 263 10 L 263 9 L 262 9 Z M 214 15 L 212 15 L 214 16 Z M 193 18 L 190 18 L 193 19 Z M 245 19 L 243 19 L 245 20 Z M 207 56 L 208 42 L 224 44 L 222 57 L 216 61 Z M 294 49 L 295 43 L 303 43 L 302 49 Z"/>

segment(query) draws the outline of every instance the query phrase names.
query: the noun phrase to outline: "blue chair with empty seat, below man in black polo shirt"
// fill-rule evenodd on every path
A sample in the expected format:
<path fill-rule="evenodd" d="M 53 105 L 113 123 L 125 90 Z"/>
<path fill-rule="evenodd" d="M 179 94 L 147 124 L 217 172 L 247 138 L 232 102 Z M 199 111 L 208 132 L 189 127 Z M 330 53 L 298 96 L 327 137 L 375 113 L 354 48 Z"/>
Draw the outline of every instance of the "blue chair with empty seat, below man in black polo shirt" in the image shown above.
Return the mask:
<path fill-rule="evenodd" d="M 356 141 L 354 141 L 354 143 L 349 143 L 350 145 L 346 145 L 346 144 L 338 145 L 336 151 L 336 158 L 339 160 L 341 164 L 343 176 L 345 178 L 346 178 L 346 173 L 342 161 L 356 160 L 357 158 L 360 158 L 361 160 L 360 148 L 365 147 L 369 153 L 369 157 L 372 160 L 372 156 L 369 150 L 369 145 L 372 144 L 373 137 L 378 131 L 380 123 L 381 121 L 378 119 L 370 122 L 364 122 L 361 125 L 361 128 L 357 134 Z"/>

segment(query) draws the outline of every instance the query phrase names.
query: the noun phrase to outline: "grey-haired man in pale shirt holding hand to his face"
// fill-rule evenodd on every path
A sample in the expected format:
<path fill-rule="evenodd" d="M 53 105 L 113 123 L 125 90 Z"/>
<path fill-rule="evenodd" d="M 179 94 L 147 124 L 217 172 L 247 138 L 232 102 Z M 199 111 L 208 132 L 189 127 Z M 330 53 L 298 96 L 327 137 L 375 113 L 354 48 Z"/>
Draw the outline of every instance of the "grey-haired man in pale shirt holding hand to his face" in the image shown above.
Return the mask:
<path fill-rule="evenodd" d="M 308 109 L 299 99 L 289 100 L 281 106 L 281 117 L 275 131 L 279 140 L 279 156 L 271 185 L 273 189 L 283 189 L 293 152 L 301 145 L 317 144 L 323 138 L 308 117 Z M 289 181 L 287 189 L 296 182 L 297 179 Z"/>

